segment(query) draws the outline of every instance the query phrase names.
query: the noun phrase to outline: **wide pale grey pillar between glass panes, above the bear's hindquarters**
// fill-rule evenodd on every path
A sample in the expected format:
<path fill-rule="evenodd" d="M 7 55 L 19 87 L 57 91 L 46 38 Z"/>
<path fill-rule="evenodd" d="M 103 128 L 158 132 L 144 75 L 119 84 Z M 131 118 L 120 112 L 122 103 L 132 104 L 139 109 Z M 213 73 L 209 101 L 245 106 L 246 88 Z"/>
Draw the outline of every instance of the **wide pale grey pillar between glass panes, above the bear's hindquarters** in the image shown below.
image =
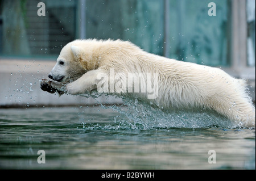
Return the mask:
<path fill-rule="evenodd" d="M 231 41 L 230 67 L 223 68 L 234 77 L 254 81 L 255 66 L 247 66 L 247 21 L 246 1 L 232 0 L 231 2 Z"/>

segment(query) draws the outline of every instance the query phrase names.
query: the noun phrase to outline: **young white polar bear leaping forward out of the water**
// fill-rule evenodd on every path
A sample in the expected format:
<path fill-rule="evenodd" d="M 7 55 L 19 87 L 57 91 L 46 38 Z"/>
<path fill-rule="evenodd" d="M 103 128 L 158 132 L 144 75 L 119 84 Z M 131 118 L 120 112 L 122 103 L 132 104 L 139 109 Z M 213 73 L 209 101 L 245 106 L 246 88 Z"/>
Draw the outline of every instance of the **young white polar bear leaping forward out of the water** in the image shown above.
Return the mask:
<path fill-rule="evenodd" d="M 129 74 L 133 77 L 127 81 Z M 52 80 L 43 79 L 41 89 L 51 93 L 97 89 L 141 98 L 164 110 L 214 110 L 255 128 L 255 107 L 244 80 L 218 68 L 147 53 L 129 41 L 74 40 L 63 47 L 48 77 Z"/>

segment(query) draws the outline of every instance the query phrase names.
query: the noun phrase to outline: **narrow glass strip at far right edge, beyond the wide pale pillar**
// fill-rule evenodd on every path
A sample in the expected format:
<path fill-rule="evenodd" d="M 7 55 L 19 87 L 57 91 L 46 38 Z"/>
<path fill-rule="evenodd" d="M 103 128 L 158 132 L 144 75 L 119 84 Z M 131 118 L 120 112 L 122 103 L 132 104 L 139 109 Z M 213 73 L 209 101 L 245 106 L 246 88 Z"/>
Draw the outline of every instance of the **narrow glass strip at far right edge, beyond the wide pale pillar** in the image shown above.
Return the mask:
<path fill-rule="evenodd" d="M 248 26 L 248 37 L 247 37 L 247 63 L 249 66 L 255 66 L 255 1 L 246 1 L 246 12 L 247 12 L 247 26 Z"/>

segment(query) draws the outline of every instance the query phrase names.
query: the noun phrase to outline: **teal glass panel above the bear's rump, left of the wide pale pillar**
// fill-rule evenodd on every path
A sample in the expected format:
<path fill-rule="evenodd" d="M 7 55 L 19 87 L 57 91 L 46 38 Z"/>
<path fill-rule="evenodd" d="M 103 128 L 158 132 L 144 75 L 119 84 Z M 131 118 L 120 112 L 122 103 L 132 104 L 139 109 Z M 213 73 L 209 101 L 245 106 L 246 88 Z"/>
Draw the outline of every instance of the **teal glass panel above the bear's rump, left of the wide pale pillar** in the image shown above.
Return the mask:
<path fill-rule="evenodd" d="M 212 66 L 229 64 L 228 1 L 214 1 L 216 16 L 208 15 L 210 2 L 170 1 L 171 58 Z"/>

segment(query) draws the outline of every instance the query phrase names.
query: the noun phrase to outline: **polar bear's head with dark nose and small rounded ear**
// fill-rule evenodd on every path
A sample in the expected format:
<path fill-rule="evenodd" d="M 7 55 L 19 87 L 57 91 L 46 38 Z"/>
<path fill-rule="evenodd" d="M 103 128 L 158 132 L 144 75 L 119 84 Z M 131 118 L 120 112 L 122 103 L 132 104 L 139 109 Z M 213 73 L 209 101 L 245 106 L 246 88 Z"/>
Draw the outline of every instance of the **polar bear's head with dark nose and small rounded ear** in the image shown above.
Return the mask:
<path fill-rule="evenodd" d="M 76 81 L 89 70 L 98 68 L 95 47 L 87 41 L 75 40 L 61 49 L 57 63 L 48 77 L 54 81 L 68 83 Z"/>

